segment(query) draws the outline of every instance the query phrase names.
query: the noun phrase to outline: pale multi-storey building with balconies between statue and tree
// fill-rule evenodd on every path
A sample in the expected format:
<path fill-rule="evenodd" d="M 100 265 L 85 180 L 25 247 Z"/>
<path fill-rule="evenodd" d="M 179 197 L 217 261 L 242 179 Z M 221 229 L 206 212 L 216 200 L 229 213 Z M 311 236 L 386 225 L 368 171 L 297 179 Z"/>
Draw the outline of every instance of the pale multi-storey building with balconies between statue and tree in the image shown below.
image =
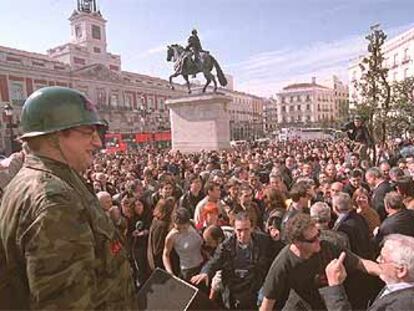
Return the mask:
<path fill-rule="evenodd" d="M 288 85 L 276 94 L 280 127 L 335 126 L 347 116 L 348 88 L 336 76 L 322 85 Z"/>

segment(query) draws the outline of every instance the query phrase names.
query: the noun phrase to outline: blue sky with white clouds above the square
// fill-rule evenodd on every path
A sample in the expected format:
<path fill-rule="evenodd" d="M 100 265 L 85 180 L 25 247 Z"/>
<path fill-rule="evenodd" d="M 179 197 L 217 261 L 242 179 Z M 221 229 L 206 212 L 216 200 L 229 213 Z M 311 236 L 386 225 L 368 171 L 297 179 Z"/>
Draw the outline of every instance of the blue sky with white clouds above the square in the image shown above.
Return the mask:
<path fill-rule="evenodd" d="M 414 27 L 414 0 L 97 0 L 122 70 L 164 79 L 167 45 L 193 28 L 238 91 L 269 97 L 290 83 L 347 82 L 370 26 L 390 38 Z M 46 54 L 70 39 L 75 0 L 0 0 L 0 45 Z M 197 78 L 200 81 L 203 79 Z M 177 80 L 177 82 L 181 82 Z"/>

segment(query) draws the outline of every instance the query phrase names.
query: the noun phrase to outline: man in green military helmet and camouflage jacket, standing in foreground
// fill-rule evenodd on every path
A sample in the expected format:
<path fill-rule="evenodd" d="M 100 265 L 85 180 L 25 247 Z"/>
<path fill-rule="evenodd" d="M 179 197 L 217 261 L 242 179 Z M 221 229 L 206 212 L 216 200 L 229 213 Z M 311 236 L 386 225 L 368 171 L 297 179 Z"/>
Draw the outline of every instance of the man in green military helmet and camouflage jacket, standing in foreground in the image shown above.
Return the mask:
<path fill-rule="evenodd" d="M 78 91 L 46 87 L 21 124 L 28 155 L 0 207 L 0 309 L 135 308 L 124 245 L 82 177 L 105 122 Z"/>

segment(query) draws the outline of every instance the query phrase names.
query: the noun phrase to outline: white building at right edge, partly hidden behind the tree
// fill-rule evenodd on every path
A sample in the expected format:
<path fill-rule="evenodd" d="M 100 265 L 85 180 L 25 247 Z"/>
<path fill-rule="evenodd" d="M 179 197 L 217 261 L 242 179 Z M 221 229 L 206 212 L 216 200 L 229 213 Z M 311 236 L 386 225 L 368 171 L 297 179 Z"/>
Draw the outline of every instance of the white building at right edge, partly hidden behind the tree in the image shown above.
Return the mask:
<path fill-rule="evenodd" d="M 368 44 L 368 41 L 367 41 Z M 384 54 L 383 66 L 388 68 L 388 82 L 402 81 L 405 78 L 414 76 L 414 27 L 387 39 L 382 46 Z M 360 81 L 362 71 L 359 67 L 364 56 L 359 56 L 352 60 L 348 67 L 349 102 L 351 109 L 358 102 L 359 94 L 355 83 Z"/>

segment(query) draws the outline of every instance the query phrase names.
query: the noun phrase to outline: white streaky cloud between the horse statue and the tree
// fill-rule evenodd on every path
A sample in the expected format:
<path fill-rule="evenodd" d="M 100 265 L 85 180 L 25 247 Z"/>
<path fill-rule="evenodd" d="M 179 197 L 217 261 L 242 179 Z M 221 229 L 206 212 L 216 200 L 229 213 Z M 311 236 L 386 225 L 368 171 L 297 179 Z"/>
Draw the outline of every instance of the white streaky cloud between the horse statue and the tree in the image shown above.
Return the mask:
<path fill-rule="evenodd" d="M 395 36 L 413 25 L 386 29 Z M 225 67 L 235 77 L 241 91 L 271 96 L 290 83 L 318 80 L 337 75 L 347 81 L 347 67 L 351 60 L 365 53 L 365 33 L 331 42 L 314 42 L 298 48 L 266 51 Z"/>

